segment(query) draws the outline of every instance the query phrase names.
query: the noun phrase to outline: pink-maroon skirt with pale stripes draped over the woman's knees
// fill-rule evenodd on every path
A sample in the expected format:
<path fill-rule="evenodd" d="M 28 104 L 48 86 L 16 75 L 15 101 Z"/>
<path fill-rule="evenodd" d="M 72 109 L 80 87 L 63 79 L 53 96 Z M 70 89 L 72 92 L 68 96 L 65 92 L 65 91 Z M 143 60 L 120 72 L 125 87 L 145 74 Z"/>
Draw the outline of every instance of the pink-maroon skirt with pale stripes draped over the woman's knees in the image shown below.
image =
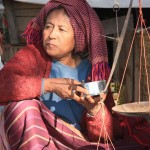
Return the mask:
<path fill-rule="evenodd" d="M 5 111 L 5 132 L 11 150 L 114 150 L 112 145 L 89 142 L 78 131 L 65 125 L 40 101 L 35 99 L 9 104 Z M 99 118 L 88 119 L 90 123 Z M 93 124 L 93 123 L 92 123 Z M 144 150 L 130 139 L 113 142 L 116 150 Z"/>

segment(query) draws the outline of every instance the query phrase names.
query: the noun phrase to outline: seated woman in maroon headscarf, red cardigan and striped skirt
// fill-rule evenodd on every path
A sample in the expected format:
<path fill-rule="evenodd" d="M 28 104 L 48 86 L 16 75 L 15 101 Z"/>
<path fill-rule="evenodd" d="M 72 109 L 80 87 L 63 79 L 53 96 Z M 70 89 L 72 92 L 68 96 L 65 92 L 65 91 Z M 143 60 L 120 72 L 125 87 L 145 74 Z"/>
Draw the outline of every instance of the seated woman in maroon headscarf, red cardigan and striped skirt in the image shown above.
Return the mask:
<path fill-rule="evenodd" d="M 81 84 L 109 76 L 101 34 L 99 18 L 85 0 L 51 0 L 29 23 L 27 46 L 0 71 L 11 150 L 111 149 L 111 141 L 116 149 L 144 148 L 131 139 L 115 142 L 123 136 L 111 114 L 110 93 L 101 96 L 102 104 Z"/>

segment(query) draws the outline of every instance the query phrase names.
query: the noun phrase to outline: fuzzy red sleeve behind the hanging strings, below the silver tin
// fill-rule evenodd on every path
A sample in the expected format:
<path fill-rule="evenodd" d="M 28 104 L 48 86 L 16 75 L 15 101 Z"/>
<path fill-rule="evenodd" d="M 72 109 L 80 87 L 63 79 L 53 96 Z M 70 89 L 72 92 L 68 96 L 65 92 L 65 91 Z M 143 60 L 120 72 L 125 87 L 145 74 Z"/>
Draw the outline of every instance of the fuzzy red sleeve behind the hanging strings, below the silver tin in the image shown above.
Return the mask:
<path fill-rule="evenodd" d="M 113 120 L 110 112 L 105 105 L 100 104 L 99 112 L 91 116 L 88 113 L 85 115 L 86 134 L 91 141 L 98 141 L 99 136 L 104 139 L 106 135 L 113 138 Z"/>

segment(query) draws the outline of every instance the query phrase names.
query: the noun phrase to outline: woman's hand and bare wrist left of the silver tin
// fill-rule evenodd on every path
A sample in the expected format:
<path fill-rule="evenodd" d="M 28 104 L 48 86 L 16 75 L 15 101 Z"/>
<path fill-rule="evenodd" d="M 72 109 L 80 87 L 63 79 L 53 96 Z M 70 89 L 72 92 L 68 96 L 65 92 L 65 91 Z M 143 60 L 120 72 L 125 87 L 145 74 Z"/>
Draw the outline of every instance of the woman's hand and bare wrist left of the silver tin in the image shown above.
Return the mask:
<path fill-rule="evenodd" d="M 81 82 L 69 78 L 45 78 L 44 92 L 54 92 L 64 99 L 74 99 L 80 103 L 80 93 L 88 95 L 87 89 L 81 86 Z"/>

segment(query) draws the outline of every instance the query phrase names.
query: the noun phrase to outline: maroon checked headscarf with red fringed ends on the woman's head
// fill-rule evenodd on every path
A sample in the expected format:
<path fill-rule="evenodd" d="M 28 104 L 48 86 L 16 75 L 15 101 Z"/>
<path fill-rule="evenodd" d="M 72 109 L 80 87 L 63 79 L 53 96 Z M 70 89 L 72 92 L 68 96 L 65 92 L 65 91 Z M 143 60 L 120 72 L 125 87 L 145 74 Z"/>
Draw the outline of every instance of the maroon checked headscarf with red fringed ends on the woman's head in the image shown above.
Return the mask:
<path fill-rule="evenodd" d="M 96 12 L 85 0 L 51 0 L 28 24 L 24 37 L 27 44 L 35 46 L 42 43 L 42 31 L 50 11 L 62 6 L 72 24 L 75 35 L 75 52 L 89 52 L 92 62 L 90 80 L 107 79 L 109 75 L 107 47 L 104 31 Z M 42 45 L 41 45 L 42 46 Z"/>

